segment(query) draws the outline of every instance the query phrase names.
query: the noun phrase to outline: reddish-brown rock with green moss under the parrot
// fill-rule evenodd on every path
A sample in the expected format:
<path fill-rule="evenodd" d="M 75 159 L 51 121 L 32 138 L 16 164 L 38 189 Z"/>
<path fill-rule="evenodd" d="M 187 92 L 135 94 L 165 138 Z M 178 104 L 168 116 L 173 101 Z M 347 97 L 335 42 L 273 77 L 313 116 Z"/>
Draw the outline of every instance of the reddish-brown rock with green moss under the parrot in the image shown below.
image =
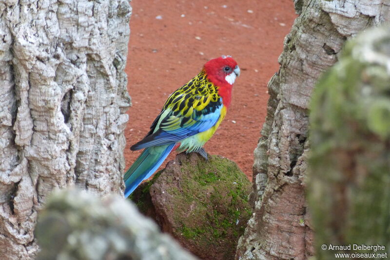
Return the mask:
<path fill-rule="evenodd" d="M 177 155 L 132 195 L 139 210 L 202 259 L 234 259 L 251 216 L 251 182 L 220 156 Z"/>

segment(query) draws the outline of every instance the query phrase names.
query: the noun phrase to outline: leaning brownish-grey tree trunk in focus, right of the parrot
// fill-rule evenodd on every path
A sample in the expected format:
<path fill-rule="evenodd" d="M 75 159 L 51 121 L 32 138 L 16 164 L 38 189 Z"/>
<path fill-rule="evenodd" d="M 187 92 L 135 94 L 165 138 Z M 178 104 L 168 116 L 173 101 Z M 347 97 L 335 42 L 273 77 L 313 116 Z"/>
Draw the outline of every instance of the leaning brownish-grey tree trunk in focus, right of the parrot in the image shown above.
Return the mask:
<path fill-rule="evenodd" d="M 254 151 L 254 213 L 236 259 L 303 260 L 314 254 L 303 179 L 308 105 L 318 76 L 348 37 L 390 19 L 389 0 L 294 0 L 297 13 L 270 80 L 262 137 Z"/>

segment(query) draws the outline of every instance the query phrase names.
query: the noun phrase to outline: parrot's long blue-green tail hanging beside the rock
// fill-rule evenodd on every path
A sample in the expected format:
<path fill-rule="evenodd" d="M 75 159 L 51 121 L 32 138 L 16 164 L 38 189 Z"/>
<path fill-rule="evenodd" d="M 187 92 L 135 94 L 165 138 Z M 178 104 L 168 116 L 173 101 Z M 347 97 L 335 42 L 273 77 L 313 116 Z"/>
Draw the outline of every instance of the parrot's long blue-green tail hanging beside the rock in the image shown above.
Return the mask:
<path fill-rule="evenodd" d="M 143 150 L 134 164 L 126 171 L 123 180 L 125 182 L 125 198 L 127 198 L 143 181 L 148 179 L 164 162 L 175 144 L 149 147 Z"/>

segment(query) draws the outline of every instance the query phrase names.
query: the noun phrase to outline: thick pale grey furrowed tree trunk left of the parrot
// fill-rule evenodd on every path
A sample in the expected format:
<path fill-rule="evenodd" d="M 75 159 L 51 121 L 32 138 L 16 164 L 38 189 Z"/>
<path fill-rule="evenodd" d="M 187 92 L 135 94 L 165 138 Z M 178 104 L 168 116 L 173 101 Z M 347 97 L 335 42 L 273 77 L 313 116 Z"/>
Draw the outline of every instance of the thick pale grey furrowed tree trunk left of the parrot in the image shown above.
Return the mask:
<path fill-rule="evenodd" d="M 32 259 L 55 188 L 120 193 L 127 0 L 0 3 L 0 259 Z"/>

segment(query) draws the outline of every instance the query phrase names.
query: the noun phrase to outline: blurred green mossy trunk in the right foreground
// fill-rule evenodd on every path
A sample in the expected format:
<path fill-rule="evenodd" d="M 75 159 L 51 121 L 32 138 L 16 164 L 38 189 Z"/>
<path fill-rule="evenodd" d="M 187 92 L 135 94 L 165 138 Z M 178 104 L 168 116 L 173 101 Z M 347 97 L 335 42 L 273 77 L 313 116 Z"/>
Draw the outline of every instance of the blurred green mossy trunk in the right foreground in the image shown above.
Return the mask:
<path fill-rule="evenodd" d="M 307 192 L 317 259 L 343 252 L 331 244 L 379 244 L 385 250 L 352 246 L 344 252 L 389 255 L 389 27 L 346 44 L 340 61 L 317 84 L 311 108 Z"/>

